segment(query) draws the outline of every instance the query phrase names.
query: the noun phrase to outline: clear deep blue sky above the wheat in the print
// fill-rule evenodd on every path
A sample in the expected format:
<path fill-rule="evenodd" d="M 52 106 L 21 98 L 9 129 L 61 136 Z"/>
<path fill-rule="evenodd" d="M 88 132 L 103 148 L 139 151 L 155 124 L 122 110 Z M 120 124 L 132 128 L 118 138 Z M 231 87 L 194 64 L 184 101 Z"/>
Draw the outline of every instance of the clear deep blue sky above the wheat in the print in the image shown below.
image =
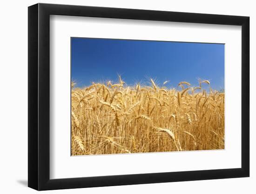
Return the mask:
<path fill-rule="evenodd" d="M 167 87 L 181 81 L 198 85 L 209 80 L 224 89 L 224 44 L 147 40 L 71 38 L 71 79 L 77 87 L 118 80 L 128 85 L 148 84 L 149 78 Z"/>

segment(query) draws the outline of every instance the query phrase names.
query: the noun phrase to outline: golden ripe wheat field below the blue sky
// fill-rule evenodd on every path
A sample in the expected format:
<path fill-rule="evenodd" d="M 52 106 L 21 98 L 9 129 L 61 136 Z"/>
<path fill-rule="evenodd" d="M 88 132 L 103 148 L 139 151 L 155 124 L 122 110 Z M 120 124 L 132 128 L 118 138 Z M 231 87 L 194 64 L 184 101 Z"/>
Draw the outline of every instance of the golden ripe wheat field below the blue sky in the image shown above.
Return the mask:
<path fill-rule="evenodd" d="M 224 149 L 224 93 L 208 80 L 172 89 L 149 81 L 72 82 L 72 155 Z"/>

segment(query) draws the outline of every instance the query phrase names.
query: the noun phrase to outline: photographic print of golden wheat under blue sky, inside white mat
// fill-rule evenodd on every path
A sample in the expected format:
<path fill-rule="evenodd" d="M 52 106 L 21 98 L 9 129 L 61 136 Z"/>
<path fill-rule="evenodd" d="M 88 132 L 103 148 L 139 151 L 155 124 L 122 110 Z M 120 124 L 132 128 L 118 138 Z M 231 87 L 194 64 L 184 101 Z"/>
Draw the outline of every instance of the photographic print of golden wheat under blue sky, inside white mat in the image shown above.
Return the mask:
<path fill-rule="evenodd" d="M 71 155 L 224 149 L 224 44 L 71 37 Z"/>

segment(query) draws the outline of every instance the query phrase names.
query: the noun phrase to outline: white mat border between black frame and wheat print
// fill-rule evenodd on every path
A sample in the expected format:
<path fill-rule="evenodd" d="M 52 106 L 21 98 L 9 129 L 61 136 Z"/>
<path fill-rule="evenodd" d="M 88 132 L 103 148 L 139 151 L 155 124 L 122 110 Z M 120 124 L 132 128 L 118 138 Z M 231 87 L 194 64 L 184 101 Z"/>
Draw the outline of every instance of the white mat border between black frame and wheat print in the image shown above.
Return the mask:
<path fill-rule="evenodd" d="M 50 179 L 240 168 L 241 36 L 239 26 L 51 16 Z M 225 43 L 225 150 L 70 157 L 70 37 Z"/>

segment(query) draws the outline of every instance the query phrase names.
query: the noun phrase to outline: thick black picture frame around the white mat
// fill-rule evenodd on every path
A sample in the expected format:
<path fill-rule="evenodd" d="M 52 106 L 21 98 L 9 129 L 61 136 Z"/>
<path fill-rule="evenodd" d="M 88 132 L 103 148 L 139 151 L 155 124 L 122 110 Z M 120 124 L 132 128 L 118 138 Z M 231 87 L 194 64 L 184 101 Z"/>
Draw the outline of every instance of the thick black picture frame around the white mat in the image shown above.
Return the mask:
<path fill-rule="evenodd" d="M 242 167 L 217 170 L 50 179 L 50 15 L 242 26 Z M 36 4 L 28 7 L 28 187 L 101 187 L 249 176 L 249 17 L 108 7 Z"/>

